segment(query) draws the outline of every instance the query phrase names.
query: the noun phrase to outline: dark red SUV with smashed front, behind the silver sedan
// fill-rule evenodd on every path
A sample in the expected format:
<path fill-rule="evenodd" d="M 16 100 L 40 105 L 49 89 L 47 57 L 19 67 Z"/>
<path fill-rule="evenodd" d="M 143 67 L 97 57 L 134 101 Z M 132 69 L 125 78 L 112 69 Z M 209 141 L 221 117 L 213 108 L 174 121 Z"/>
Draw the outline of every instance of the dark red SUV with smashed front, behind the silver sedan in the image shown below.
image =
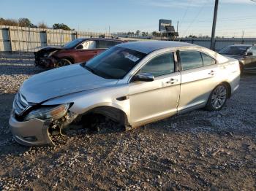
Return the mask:
<path fill-rule="evenodd" d="M 125 41 L 120 39 L 86 38 L 75 39 L 63 47 L 44 47 L 34 52 L 35 66 L 52 69 L 88 61 L 100 52 L 123 42 Z"/>

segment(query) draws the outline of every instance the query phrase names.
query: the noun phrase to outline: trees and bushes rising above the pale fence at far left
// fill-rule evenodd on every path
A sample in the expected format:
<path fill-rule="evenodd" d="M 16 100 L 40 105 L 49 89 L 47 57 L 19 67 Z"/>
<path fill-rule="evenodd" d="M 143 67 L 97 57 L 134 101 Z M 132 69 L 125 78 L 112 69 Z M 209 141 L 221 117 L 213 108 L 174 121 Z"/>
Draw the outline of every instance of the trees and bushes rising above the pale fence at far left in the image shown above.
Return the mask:
<path fill-rule="evenodd" d="M 51 29 L 63 29 L 66 31 L 71 31 L 74 29 L 69 28 L 64 23 L 55 23 L 52 27 L 49 27 L 45 22 L 39 22 L 37 25 L 31 23 L 31 20 L 28 18 L 19 18 L 16 19 L 4 19 L 0 17 L 0 26 L 22 26 L 22 27 L 31 27 L 31 28 L 51 28 Z"/>

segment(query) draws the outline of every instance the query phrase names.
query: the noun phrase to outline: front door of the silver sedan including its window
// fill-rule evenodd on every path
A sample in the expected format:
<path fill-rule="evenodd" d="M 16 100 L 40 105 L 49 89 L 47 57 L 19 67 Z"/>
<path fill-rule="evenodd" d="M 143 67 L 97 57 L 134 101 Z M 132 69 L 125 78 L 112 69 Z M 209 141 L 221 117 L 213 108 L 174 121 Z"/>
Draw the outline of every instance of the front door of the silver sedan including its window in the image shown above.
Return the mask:
<path fill-rule="evenodd" d="M 176 114 L 181 75 L 175 72 L 173 52 L 155 56 L 138 73 L 153 74 L 154 81 L 129 83 L 131 125 L 139 126 Z"/>

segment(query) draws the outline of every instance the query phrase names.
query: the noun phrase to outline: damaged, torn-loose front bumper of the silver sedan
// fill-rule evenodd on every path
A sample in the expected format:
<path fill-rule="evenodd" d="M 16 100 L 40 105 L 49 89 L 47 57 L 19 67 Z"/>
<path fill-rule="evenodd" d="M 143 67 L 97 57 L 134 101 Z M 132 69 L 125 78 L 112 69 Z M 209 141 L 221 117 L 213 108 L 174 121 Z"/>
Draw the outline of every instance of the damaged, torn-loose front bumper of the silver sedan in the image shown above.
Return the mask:
<path fill-rule="evenodd" d="M 18 121 L 15 119 L 15 114 L 12 112 L 9 120 L 12 135 L 19 144 L 26 146 L 54 146 L 55 144 L 50 139 L 49 130 L 59 130 L 77 117 L 77 114 L 67 112 L 64 117 L 59 120 L 39 120 L 37 118 L 28 121 Z"/>

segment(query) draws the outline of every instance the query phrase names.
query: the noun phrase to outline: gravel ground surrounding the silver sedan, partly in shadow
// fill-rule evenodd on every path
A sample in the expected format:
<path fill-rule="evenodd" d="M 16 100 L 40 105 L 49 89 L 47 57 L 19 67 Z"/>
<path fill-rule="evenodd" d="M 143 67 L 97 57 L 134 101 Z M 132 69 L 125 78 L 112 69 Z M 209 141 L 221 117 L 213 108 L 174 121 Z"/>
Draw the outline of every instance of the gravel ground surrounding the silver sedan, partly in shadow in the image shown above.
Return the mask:
<path fill-rule="evenodd" d="M 256 74 L 220 112 L 203 109 L 128 132 L 69 130 L 56 147 L 23 147 L 8 128 L 14 93 L 40 69 L 0 55 L 0 190 L 255 190 Z"/>

